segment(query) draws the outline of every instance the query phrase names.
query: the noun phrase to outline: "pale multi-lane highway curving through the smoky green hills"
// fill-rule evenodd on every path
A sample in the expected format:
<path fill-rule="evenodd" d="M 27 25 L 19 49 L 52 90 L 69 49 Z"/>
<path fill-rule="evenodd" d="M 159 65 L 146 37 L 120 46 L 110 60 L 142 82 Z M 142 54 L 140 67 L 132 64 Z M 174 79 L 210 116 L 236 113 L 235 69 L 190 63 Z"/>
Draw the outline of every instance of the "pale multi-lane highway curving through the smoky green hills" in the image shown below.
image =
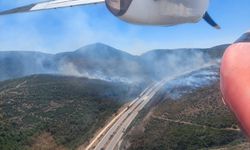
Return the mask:
<path fill-rule="evenodd" d="M 206 67 L 206 66 L 203 66 Z M 202 68 L 202 67 L 201 67 Z M 138 115 L 138 113 L 144 108 L 144 106 L 152 99 L 152 97 L 169 81 L 191 73 L 192 71 L 201 69 L 196 68 L 175 74 L 169 78 L 166 78 L 160 82 L 153 83 L 146 88 L 135 100 L 133 100 L 129 106 L 122 110 L 108 125 L 96 136 L 96 138 L 85 148 L 85 150 L 114 150 L 119 148 L 119 142 L 121 141 L 125 131 L 130 126 L 132 121 Z"/>

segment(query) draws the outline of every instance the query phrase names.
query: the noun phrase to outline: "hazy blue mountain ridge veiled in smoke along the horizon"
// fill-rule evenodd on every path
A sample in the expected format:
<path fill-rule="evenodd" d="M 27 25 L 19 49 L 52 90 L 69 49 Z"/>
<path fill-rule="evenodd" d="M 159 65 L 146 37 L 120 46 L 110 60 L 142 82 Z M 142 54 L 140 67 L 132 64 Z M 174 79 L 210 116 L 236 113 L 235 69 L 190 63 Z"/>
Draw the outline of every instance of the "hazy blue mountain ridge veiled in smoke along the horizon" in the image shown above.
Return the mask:
<path fill-rule="evenodd" d="M 173 72 L 177 68 L 187 69 L 191 65 L 218 59 L 226 46 L 228 45 L 208 49 L 152 50 L 139 56 L 103 43 L 94 43 L 75 51 L 57 54 L 2 51 L 0 80 L 32 74 L 73 75 L 115 82 L 155 80 L 168 75 L 168 70 Z"/>

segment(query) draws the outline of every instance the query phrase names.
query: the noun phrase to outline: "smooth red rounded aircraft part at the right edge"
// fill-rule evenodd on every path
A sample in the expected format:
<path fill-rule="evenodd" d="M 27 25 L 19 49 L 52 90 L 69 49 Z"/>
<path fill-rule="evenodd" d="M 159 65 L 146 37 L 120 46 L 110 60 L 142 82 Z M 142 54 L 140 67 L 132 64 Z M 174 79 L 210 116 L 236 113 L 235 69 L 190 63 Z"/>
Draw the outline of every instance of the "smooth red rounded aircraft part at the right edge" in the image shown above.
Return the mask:
<path fill-rule="evenodd" d="M 250 42 L 227 48 L 220 74 L 224 101 L 250 138 Z"/>

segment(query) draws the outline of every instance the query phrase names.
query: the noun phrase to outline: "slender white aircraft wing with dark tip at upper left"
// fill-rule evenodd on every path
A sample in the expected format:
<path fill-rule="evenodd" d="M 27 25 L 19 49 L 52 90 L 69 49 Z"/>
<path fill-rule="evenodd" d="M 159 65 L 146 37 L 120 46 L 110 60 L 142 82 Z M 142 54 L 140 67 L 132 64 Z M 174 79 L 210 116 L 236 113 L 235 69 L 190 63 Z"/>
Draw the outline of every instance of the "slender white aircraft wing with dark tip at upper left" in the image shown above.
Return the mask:
<path fill-rule="evenodd" d="M 56 9 L 63 7 L 73 7 L 78 5 L 89 5 L 89 4 L 98 4 L 103 3 L 105 0 L 53 0 L 47 2 L 34 3 L 27 6 L 22 6 L 10 10 L 5 10 L 0 12 L 0 15 L 8 15 L 15 13 L 24 13 L 31 11 L 39 11 L 46 9 Z"/>

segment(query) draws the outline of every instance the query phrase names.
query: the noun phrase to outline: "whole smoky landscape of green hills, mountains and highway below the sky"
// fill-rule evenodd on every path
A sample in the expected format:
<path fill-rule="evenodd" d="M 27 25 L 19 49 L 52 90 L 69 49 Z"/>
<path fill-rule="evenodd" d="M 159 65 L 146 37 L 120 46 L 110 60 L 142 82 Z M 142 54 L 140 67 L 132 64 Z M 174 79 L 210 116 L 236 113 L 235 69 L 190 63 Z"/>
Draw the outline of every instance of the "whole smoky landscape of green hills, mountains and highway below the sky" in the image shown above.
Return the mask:
<path fill-rule="evenodd" d="M 1 52 L 0 149 L 248 145 L 220 100 L 227 46 L 139 56 L 101 43 L 59 54 Z"/>

